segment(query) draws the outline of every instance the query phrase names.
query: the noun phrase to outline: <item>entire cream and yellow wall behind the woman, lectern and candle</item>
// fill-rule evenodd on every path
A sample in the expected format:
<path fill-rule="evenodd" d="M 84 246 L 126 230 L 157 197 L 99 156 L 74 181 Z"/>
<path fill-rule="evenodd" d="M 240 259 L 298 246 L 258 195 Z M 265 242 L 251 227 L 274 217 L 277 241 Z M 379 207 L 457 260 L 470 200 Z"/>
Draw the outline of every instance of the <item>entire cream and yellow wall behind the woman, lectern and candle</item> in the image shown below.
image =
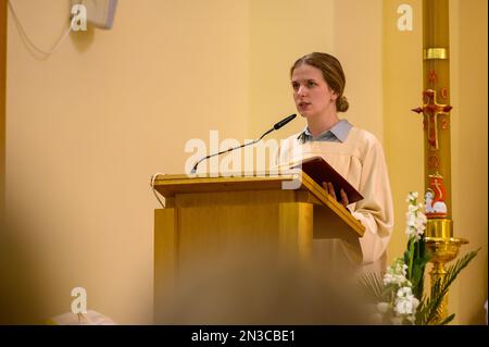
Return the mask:
<path fill-rule="evenodd" d="M 315 50 L 342 61 L 351 103 L 344 116 L 384 142 L 397 222 L 389 255 L 400 255 L 405 195 L 424 189 L 422 125 L 409 111 L 423 88 L 421 0 L 409 2 L 412 33 L 396 28 L 397 5 L 404 2 L 121 0 L 112 30 L 72 33 L 47 61 L 27 52 L 10 15 L 7 186 L 17 216 L 12 245 L 26 256 L 17 265 L 26 278 L 17 282 L 30 283 L 39 298 L 29 318 L 67 312 L 71 289 L 83 286 L 90 309 L 120 323 L 151 323 L 158 205 L 150 175 L 183 172 L 189 138 L 208 139 L 210 129 L 220 129 L 221 138 L 255 138 L 296 112 L 289 66 Z M 468 18 L 487 13 L 479 11 L 482 2 L 457 2 L 461 48 L 479 35 Z M 52 45 L 68 1 L 13 3 L 33 41 Z M 478 25 L 487 27 L 487 17 Z M 471 82 L 479 76 L 472 66 L 484 61 L 487 46 L 485 57 L 461 54 L 461 88 L 452 86 L 454 106 L 459 98 L 461 112 L 477 120 L 452 131 L 455 233 L 486 251 L 451 301 L 461 323 L 478 322 L 473 317 L 487 297 L 487 79 L 477 88 Z M 480 69 L 486 76 L 487 66 Z M 296 120 L 271 137 L 303 125 Z M 480 161 L 466 156 L 467 144 L 485 150 Z M 482 189 L 465 177 L 479 179 Z M 457 200 L 477 202 L 464 210 Z M 474 287 L 481 289 L 473 300 Z M 18 296 L 32 298 L 25 292 Z"/>

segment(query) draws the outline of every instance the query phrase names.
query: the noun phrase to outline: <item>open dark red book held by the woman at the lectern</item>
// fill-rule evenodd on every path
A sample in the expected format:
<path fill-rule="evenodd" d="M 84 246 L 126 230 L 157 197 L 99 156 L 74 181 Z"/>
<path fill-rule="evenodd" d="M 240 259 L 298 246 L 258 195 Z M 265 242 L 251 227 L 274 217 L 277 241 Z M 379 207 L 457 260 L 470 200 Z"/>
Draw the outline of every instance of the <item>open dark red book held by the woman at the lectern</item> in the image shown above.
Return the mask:
<path fill-rule="evenodd" d="M 343 189 L 348 196 L 348 203 L 353 203 L 363 199 L 363 196 L 322 157 L 304 159 L 301 164 L 293 165 L 291 169 L 302 169 L 302 171 L 319 186 L 323 186 L 323 182 L 333 183 L 337 199 L 341 197 L 341 189 Z"/>

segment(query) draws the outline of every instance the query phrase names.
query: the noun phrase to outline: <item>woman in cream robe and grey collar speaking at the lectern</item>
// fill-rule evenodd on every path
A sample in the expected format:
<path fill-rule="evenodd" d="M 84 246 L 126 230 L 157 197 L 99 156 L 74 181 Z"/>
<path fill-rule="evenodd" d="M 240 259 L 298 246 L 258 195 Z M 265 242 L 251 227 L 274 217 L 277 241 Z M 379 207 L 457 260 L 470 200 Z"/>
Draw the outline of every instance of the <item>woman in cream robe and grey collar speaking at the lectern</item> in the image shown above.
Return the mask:
<path fill-rule="evenodd" d="M 323 186 L 365 226 L 358 252 L 363 265 L 385 270 L 393 209 L 381 145 L 373 134 L 338 117 L 339 112 L 348 110 L 349 103 L 343 96 L 344 73 L 335 57 L 318 52 L 304 55 L 292 65 L 290 77 L 297 110 L 308 125 L 283 144 L 278 164 L 321 156 L 347 178 L 362 194 L 363 200 L 350 203 L 344 191 L 336 197 L 330 183 L 323 183 Z M 319 243 L 315 241 L 314 247 L 317 246 Z M 328 247 L 322 253 L 326 253 L 329 261 L 339 261 L 331 257 L 336 257 L 333 255 L 338 248 L 344 251 L 344 247 L 331 241 Z"/>

